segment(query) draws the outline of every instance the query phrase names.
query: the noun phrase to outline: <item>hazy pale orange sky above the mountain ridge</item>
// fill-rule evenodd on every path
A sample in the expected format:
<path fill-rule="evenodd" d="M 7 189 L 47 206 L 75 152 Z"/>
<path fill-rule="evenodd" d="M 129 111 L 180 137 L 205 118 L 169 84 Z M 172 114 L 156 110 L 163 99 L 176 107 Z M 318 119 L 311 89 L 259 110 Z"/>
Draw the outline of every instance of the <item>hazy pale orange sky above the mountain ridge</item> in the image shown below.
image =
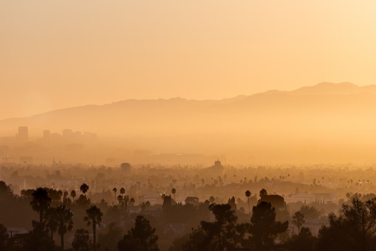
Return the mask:
<path fill-rule="evenodd" d="M 0 119 L 376 83 L 374 1 L 0 1 Z"/>

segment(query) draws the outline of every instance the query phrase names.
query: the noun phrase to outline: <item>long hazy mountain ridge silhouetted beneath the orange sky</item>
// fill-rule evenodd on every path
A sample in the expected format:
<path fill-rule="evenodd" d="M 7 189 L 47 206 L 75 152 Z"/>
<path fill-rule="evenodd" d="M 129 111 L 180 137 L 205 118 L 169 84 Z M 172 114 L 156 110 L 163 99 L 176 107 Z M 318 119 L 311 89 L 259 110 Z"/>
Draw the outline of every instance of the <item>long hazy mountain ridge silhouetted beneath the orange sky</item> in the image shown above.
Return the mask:
<path fill-rule="evenodd" d="M 41 134 L 44 129 L 60 133 L 65 128 L 100 135 L 226 132 L 225 128 L 235 129 L 246 118 L 252 121 L 251 126 L 273 116 L 295 120 L 299 116 L 314 115 L 318 119 L 324 114 L 346 116 L 353 111 L 358 117 L 376 108 L 375 95 L 376 85 L 359 87 L 347 82 L 323 82 L 293 91 L 272 90 L 222 100 L 129 99 L 0 120 L 0 134 L 15 131 L 20 125 L 29 126 L 30 134 Z"/>

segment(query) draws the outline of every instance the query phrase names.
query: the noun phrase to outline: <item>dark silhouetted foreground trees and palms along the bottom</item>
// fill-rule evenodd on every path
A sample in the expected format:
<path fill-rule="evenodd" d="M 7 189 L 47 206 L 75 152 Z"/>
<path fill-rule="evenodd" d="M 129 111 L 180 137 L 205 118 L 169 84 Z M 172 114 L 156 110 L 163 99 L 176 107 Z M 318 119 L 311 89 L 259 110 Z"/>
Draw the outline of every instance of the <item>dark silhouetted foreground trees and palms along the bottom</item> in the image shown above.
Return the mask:
<path fill-rule="evenodd" d="M 73 211 L 70 208 L 73 201 L 70 202 L 66 198 L 67 193 L 62 193 L 61 201 L 58 199 L 60 192 L 39 187 L 23 192 L 21 198 L 14 195 L 9 186 L 0 181 L 2 207 L 7 207 L 4 202 L 22 200 L 28 201 L 28 207 L 36 212 L 33 214 L 35 219 L 32 221 L 32 230 L 27 234 L 13 233 L 10 236 L 5 225 L 0 224 L 0 250 L 63 250 L 65 234 L 74 229 L 76 231 L 72 247 L 67 250 L 159 250 L 159 237 L 156 235 L 156 228 L 147 219 L 149 216 L 136 216 L 134 225 L 127 234 L 123 234 L 122 229 L 117 227 L 118 222 L 113 222 L 107 224 L 107 231 L 98 235 L 96 229 L 102 224 L 103 210 L 97 205 L 92 205 L 86 198 L 88 189 L 86 184 L 82 184 L 83 195 L 80 197 L 86 202 Z M 249 199 L 251 194 L 246 191 L 245 195 Z M 213 198 L 199 202 L 197 197 L 188 197 L 183 205 L 181 202 L 176 203 L 171 196 L 164 196 L 160 221 L 179 221 L 182 217 L 190 217 L 190 220 L 196 221 L 194 215 L 204 216 L 190 233 L 176 238 L 169 251 L 376 250 L 376 198 L 361 200 L 359 196 L 353 196 L 351 203 L 342 204 L 339 215 L 329 214 L 329 225 L 322 226 L 316 237 L 309 228 L 303 227 L 305 213 L 317 214 L 314 208 L 304 206 L 292 215 L 290 223 L 298 228 L 298 231 L 292 234 L 289 231 L 289 221 L 278 221 L 276 217 L 279 210 L 276 207 L 285 206 L 282 197 L 268 195 L 264 189 L 260 191 L 260 197 L 252 209 L 250 206 L 247 208 L 247 222 L 240 222 L 238 212 L 235 211 L 235 198 L 230 198 L 227 204 L 216 204 Z M 55 201 L 53 198 L 58 200 Z M 122 204 L 123 199 L 119 199 L 120 209 L 116 205 L 110 208 L 122 210 Z M 143 210 L 147 210 L 146 208 Z M 74 221 L 75 214 L 86 222 L 89 228 L 77 226 Z M 121 217 L 117 218 L 117 221 L 121 221 Z M 88 231 L 89 229 L 91 231 Z M 55 234 L 60 237 L 59 245 L 54 241 Z"/>

